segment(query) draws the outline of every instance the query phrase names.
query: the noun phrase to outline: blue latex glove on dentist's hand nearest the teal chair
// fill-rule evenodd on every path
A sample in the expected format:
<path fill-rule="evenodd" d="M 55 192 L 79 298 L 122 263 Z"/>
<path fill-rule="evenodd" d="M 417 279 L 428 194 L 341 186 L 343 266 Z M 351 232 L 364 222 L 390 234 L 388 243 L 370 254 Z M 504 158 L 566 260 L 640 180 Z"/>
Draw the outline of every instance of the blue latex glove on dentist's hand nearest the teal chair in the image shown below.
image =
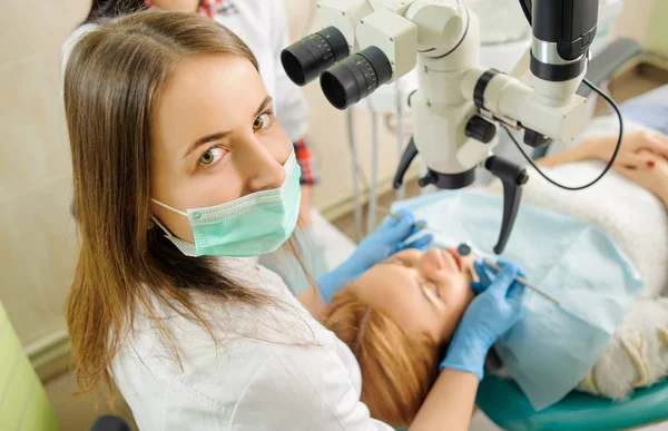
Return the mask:
<path fill-rule="evenodd" d="M 473 287 L 479 295 L 466 308 L 440 370 L 453 369 L 473 373 L 482 380 L 489 350 L 522 316 L 524 286 L 515 276 L 524 276 L 517 265 L 499 259 L 502 271 L 477 262 L 480 283 Z"/>

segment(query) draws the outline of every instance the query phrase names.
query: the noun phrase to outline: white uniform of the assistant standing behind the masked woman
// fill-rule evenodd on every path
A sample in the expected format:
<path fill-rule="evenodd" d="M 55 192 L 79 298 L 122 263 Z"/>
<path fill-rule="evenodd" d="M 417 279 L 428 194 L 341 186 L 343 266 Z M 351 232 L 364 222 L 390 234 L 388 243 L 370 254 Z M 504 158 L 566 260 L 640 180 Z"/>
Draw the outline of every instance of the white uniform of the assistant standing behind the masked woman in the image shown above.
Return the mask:
<path fill-rule="evenodd" d="M 259 65 L 259 75 L 274 99 L 274 109 L 291 141 L 308 133 L 308 105 L 281 65 L 281 51 L 289 45 L 282 0 L 227 0 L 214 19 L 237 35 L 250 48 Z M 96 23 L 79 26 L 62 48 L 62 76 L 69 55 Z"/>

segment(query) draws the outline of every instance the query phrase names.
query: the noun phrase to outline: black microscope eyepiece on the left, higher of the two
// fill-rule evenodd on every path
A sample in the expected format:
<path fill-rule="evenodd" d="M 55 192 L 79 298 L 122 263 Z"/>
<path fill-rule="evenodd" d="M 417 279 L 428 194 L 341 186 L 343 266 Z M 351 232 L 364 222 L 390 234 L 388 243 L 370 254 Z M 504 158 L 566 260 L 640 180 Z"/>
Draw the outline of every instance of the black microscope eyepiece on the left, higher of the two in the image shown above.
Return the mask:
<path fill-rule="evenodd" d="M 305 86 L 348 53 L 343 33 L 335 27 L 327 27 L 285 48 L 281 52 L 281 63 L 293 82 Z"/>

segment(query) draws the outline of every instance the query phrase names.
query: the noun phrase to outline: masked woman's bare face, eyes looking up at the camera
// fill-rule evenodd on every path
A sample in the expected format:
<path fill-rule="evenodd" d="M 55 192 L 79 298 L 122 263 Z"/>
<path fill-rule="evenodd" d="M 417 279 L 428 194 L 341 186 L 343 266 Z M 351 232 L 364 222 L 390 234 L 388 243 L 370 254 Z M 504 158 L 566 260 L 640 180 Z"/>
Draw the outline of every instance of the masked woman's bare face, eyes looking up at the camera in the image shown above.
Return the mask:
<path fill-rule="evenodd" d="M 242 57 L 187 58 L 170 74 L 151 117 L 151 197 L 181 212 L 279 187 L 292 144 L 253 63 Z M 153 204 L 181 239 L 188 218 Z"/>

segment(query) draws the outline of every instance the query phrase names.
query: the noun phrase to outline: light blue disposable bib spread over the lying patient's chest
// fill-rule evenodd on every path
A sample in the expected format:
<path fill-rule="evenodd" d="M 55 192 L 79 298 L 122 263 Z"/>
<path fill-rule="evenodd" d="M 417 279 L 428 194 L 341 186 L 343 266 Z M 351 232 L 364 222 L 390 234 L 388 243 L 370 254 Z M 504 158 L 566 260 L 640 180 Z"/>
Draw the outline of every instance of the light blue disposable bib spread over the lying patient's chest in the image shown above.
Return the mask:
<path fill-rule="evenodd" d="M 434 243 L 471 242 L 494 258 L 503 199 L 471 190 L 442 192 L 396 203 L 438 228 Z M 587 375 L 644 287 L 630 261 L 596 226 L 522 204 L 502 257 L 560 303 L 524 291 L 523 316 L 494 345 L 534 410 L 566 396 Z"/>

